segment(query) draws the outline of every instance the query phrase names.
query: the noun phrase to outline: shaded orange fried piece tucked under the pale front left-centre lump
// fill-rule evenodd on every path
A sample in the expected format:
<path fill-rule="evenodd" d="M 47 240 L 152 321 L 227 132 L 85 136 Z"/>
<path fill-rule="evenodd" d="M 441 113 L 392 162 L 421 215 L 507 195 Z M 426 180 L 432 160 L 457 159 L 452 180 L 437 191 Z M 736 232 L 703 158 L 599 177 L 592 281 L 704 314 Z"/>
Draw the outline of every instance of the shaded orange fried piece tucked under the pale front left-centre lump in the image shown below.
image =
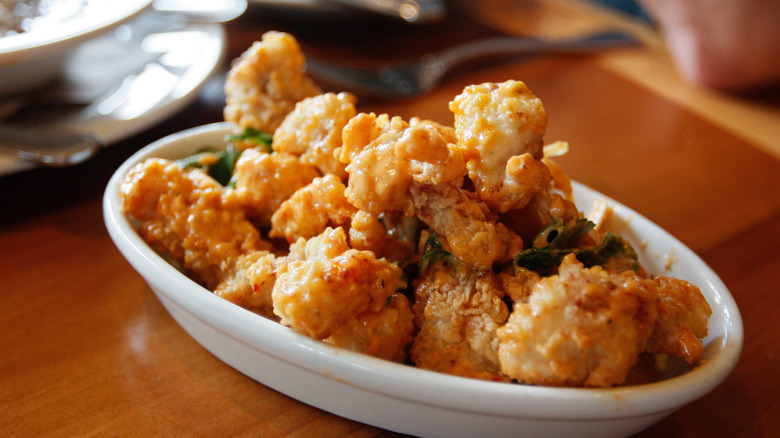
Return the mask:
<path fill-rule="evenodd" d="M 388 301 L 379 311 L 366 310 L 357 315 L 323 341 L 380 359 L 405 361 L 414 331 L 412 308 L 401 293 L 394 293 Z"/>

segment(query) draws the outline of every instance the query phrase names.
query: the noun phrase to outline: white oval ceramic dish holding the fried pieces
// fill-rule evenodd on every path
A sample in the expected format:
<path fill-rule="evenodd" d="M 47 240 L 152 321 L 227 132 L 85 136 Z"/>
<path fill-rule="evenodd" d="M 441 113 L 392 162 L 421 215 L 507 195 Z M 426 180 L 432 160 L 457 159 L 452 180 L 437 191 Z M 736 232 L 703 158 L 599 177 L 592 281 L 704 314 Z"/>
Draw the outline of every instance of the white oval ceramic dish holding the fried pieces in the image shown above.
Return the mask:
<path fill-rule="evenodd" d="M 612 389 L 486 382 L 342 350 L 244 310 L 189 280 L 147 246 L 123 215 L 118 194 L 124 175 L 144 158 L 184 157 L 204 145 L 220 144 L 230 132 L 224 123 L 206 125 L 163 138 L 133 155 L 106 188 L 104 219 L 120 252 L 197 342 L 231 367 L 290 397 L 416 436 L 623 437 L 711 391 L 737 363 L 742 321 L 721 280 L 671 235 L 609 199 L 623 223 L 622 234 L 642 250 L 645 266 L 698 285 L 713 309 L 702 364 L 689 373 Z M 603 198 L 580 184 L 574 189 L 581 209 Z M 674 263 L 668 264 L 667 254 Z"/>

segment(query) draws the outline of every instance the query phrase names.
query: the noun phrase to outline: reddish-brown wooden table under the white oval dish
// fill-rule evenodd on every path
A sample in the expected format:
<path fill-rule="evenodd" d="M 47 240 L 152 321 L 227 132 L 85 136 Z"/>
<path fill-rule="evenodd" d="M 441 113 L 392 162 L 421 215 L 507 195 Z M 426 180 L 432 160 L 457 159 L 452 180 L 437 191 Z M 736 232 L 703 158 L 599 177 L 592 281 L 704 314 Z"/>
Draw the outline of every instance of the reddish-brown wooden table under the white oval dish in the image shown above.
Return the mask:
<path fill-rule="evenodd" d="M 485 66 L 430 95 L 364 100 L 360 109 L 449 123 L 447 103 L 465 85 L 525 81 L 547 108 L 547 140 L 570 142 L 559 162 L 571 176 L 689 245 L 744 319 L 733 374 L 640 436 L 780 436 L 778 90 L 727 96 L 687 85 L 650 29 L 591 7 L 481 3 L 492 9 L 467 15 L 483 24 L 458 18 L 424 31 L 386 21 L 272 21 L 250 11 L 227 25 L 229 58 L 271 28 L 298 33 L 307 51 L 362 61 L 497 30 L 560 34 L 607 24 L 637 32 L 646 43 L 639 48 Z M 346 30 L 367 36 L 345 47 Z M 171 319 L 106 233 L 101 195 L 113 170 L 165 134 L 220 120 L 222 81 L 83 165 L 0 178 L 0 435 L 394 435 L 287 398 L 220 362 Z"/>

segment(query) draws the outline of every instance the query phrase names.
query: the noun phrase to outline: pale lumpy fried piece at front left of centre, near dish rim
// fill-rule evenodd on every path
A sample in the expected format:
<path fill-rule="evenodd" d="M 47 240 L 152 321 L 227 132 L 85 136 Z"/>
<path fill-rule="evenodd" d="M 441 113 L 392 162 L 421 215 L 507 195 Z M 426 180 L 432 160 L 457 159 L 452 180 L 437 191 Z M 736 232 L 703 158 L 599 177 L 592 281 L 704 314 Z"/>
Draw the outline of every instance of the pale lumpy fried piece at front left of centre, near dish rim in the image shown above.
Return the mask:
<path fill-rule="evenodd" d="M 281 323 L 314 339 L 325 339 L 379 312 L 406 287 L 401 269 L 373 253 L 351 249 L 342 228 L 328 228 L 290 246 L 277 270 L 272 298 Z"/>

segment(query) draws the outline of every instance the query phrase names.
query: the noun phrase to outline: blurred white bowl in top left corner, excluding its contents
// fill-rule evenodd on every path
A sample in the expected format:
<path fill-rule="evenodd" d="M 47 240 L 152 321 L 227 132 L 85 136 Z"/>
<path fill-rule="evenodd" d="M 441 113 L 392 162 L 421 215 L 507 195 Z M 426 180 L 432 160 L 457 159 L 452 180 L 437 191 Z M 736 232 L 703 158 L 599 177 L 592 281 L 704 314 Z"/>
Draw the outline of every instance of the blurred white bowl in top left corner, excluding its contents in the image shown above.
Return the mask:
<path fill-rule="evenodd" d="M 54 80 L 79 44 L 118 27 L 151 2 L 88 2 L 82 14 L 56 26 L 0 37 L 0 96 L 24 93 Z"/>

